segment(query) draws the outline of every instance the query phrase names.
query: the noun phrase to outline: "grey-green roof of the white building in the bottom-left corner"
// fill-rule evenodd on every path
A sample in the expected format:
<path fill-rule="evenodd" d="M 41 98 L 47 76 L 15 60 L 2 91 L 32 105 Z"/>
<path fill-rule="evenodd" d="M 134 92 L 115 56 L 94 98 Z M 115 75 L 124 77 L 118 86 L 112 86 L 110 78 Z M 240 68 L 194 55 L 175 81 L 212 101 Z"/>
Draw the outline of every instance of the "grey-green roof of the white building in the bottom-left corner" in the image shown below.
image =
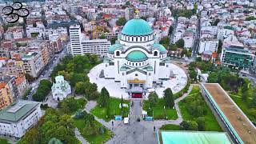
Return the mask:
<path fill-rule="evenodd" d="M 18 100 L 0 111 L 0 121 L 18 122 L 20 118 L 30 112 L 39 102 Z"/>

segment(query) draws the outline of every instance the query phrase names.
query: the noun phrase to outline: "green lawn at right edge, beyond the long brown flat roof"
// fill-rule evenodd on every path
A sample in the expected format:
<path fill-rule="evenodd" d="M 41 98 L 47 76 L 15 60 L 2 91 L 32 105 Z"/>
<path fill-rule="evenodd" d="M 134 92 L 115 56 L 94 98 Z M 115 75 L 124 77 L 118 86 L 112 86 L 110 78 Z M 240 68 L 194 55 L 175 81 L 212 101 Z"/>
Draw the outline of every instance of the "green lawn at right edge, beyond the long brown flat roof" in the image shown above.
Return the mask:
<path fill-rule="evenodd" d="M 246 102 L 242 101 L 242 98 L 236 97 L 233 94 L 230 94 L 230 98 L 239 106 L 239 108 L 246 114 L 250 121 L 256 122 L 256 108 L 250 108 L 250 103 L 252 102 L 251 98 L 247 98 Z"/>

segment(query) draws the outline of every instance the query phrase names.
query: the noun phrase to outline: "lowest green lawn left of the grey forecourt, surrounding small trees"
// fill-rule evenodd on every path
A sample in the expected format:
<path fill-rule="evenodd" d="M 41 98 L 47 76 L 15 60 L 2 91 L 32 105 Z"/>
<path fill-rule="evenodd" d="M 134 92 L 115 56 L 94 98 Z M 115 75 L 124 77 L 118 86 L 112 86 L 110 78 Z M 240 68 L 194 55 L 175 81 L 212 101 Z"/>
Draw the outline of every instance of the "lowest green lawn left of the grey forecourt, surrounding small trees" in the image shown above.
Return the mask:
<path fill-rule="evenodd" d="M 98 127 L 102 126 L 101 123 L 94 121 Z M 74 126 L 78 128 L 80 133 L 82 134 L 82 137 L 86 139 L 86 141 L 90 143 L 95 143 L 95 144 L 101 144 L 112 138 L 113 133 L 106 129 L 104 127 L 104 134 L 97 134 L 97 135 L 92 135 L 92 136 L 86 136 L 83 134 L 83 128 L 86 126 L 86 123 L 84 122 L 83 119 L 74 119 Z"/>

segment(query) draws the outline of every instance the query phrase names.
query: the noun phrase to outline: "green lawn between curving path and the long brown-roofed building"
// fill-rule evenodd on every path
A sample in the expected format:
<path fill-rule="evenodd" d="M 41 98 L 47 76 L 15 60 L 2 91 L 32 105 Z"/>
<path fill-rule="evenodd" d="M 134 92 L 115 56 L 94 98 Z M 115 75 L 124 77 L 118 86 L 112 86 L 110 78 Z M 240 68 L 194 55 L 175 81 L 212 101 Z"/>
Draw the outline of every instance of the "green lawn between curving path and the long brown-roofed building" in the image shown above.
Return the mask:
<path fill-rule="evenodd" d="M 188 105 L 190 104 L 190 102 L 186 102 L 186 99 L 188 99 L 189 97 L 194 97 L 194 100 L 202 99 L 204 105 L 206 105 L 206 102 L 202 98 L 202 94 L 199 94 L 200 93 L 199 90 L 200 89 L 198 86 L 193 86 L 193 89 L 191 90 L 189 96 L 178 103 L 178 106 L 182 113 L 182 118 L 184 120 L 196 121 L 196 119 L 198 118 L 198 117 L 195 117 L 194 115 L 191 115 L 190 112 L 188 111 L 189 109 Z M 208 105 L 206 105 L 206 114 L 204 114 L 202 117 L 205 118 L 206 131 L 222 131 L 221 127 L 218 125 L 218 122 Z"/>

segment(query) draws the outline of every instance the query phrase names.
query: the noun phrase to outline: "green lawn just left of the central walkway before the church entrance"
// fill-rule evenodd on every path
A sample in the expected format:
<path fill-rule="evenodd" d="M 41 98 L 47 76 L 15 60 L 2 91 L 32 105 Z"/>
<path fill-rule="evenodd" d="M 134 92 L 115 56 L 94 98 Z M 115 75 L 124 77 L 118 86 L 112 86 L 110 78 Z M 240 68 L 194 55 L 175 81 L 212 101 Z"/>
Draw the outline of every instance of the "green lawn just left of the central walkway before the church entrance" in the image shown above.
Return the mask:
<path fill-rule="evenodd" d="M 110 98 L 110 116 L 108 118 L 106 118 L 106 108 L 98 105 L 90 113 L 98 118 L 104 119 L 106 122 L 110 122 L 114 118 L 114 115 L 122 115 L 121 109 L 119 108 L 120 102 L 120 98 Z M 130 111 L 130 101 L 123 100 L 123 103 L 129 104 L 128 107 L 123 107 L 123 116 L 126 117 Z"/>

